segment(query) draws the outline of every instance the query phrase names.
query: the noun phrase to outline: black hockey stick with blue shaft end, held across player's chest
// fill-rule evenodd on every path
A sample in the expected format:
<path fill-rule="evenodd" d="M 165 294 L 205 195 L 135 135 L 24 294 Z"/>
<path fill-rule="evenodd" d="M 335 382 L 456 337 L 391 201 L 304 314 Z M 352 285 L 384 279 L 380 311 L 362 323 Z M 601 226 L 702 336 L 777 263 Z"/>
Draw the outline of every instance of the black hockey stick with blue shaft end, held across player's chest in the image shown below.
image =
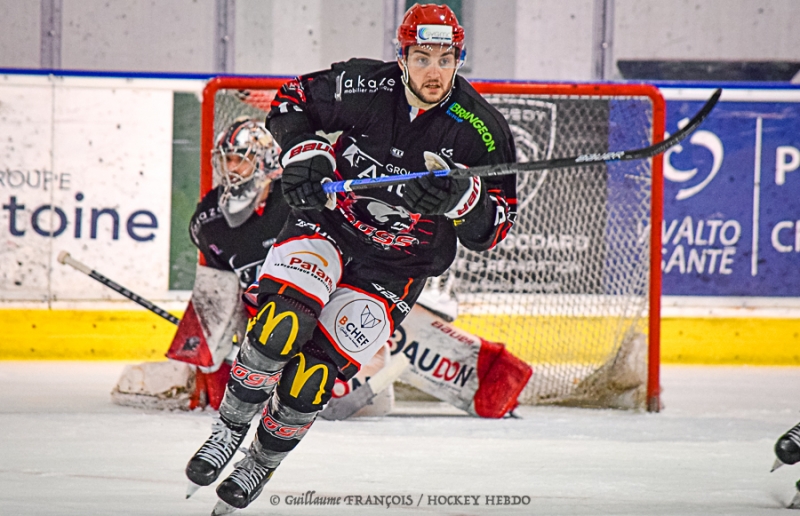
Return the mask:
<path fill-rule="evenodd" d="M 708 114 L 711 113 L 711 110 L 714 109 L 714 106 L 717 105 L 717 101 L 719 100 L 721 94 L 722 89 L 715 90 L 711 97 L 706 101 L 705 105 L 700 109 L 700 111 L 697 112 L 694 118 L 692 118 L 689 123 L 683 127 L 683 129 L 677 131 L 666 140 L 659 143 L 654 143 L 649 147 L 643 147 L 641 149 L 634 150 L 605 152 L 602 154 L 581 154 L 580 156 L 573 156 L 570 158 L 556 158 L 543 161 L 531 161 L 528 163 L 501 163 L 498 165 L 486 165 L 483 167 L 436 170 L 432 173 L 437 177 L 492 177 L 553 168 L 578 167 L 592 163 L 610 163 L 614 161 L 630 161 L 652 158 L 653 156 L 661 154 L 673 145 L 676 145 L 681 140 L 689 136 L 689 134 L 691 134 L 695 129 L 697 129 L 703 120 L 708 117 Z M 398 176 L 331 181 L 324 183 L 322 185 L 322 189 L 327 194 L 353 192 L 356 190 L 366 190 L 369 188 L 403 184 L 412 179 L 429 174 L 431 174 L 431 172 L 425 171 L 412 172 L 410 174 L 402 174 Z"/>

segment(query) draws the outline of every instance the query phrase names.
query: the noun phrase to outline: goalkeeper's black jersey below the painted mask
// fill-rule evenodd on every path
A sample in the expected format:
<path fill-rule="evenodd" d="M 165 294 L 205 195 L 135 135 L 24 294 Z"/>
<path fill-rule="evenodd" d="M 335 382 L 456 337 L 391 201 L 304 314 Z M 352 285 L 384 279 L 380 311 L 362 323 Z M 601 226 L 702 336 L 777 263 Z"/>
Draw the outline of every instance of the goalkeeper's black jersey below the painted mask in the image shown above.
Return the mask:
<path fill-rule="evenodd" d="M 239 284 L 247 288 L 257 279 L 269 248 L 286 223 L 290 208 L 281 194 L 281 183 L 272 183 L 272 192 L 263 210 L 258 210 L 239 227 L 231 228 L 218 206 L 222 187 L 209 191 L 197 204 L 189 224 L 192 242 L 215 269 L 233 271 Z"/>

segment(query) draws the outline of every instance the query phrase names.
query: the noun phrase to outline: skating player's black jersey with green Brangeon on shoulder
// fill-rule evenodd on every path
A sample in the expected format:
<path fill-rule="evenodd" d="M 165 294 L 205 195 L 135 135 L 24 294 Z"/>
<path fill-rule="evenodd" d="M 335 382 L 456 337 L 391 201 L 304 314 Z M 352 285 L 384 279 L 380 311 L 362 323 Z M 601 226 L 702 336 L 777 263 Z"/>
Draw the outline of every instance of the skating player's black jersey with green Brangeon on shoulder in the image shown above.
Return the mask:
<path fill-rule="evenodd" d="M 413 115 L 397 63 L 352 59 L 286 83 L 267 123 L 284 146 L 303 133 L 342 131 L 334 145 L 338 179 L 424 171 L 424 151 L 466 166 L 515 160 L 505 119 L 461 77 L 449 98 Z M 335 211 L 294 215 L 319 224 L 350 256 L 410 276 L 438 275 L 455 258 L 457 238 L 469 249 L 490 249 L 513 223 L 515 177 L 483 183 L 481 202 L 455 222 L 411 212 L 402 185 L 340 194 Z"/>

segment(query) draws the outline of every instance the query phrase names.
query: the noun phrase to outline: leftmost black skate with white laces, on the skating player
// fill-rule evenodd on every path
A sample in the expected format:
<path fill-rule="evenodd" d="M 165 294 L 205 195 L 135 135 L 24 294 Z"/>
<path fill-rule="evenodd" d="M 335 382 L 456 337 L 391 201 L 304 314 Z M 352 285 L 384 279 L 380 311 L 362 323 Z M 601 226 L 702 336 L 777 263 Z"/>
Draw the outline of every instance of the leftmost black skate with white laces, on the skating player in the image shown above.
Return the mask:
<path fill-rule="evenodd" d="M 186 498 L 219 477 L 222 469 L 242 444 L 248 428 L 250 425 L 238 428 L 228 426 L 222 418 L 214 418 L 211 437 L 203 443 L 186 465 L 186 476 L 189 478 Z"/>

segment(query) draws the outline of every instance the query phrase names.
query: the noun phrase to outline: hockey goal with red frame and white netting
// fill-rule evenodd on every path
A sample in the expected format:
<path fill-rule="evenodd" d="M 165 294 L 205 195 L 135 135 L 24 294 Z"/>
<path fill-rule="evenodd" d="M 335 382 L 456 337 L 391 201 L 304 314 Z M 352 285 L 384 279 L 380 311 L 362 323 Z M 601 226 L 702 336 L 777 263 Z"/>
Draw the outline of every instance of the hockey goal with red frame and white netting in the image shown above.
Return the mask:
<path fill-rule="evenodd" d="M 285 79 L 217 77 L 203 94 L 201 191 L 214 184 L 214 135 L 263 118 Z M 661 141 L 655 87 L 476 82 L 511 127 L 517 160 Z M 658 411 L 661 156 L 521 174 L 514 229 L 496 249 L 459 249 L 434 281 L 455 296 L 455 324 L 533 366 L 525 404 Z M 655 271 L 655 273 L 651 273 Z"/>

